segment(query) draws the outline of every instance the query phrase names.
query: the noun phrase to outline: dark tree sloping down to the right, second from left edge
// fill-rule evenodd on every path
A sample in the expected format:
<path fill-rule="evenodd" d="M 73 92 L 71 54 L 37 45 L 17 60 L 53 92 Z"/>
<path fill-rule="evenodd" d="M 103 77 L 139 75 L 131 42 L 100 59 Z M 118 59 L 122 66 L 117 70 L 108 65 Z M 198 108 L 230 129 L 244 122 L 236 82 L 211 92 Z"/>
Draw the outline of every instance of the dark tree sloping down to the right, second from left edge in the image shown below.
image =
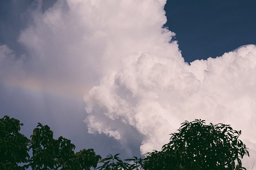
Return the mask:
<path fill-rule="evenodd" d="M 96 168 L 101 159 L 93 149 L 74 153 L 75 145 L 69 139 L 62 136 L 58 140 L 53 139 L 53 131 L 41 123 L 30 137 L 32 157 L 28 166 L 33 170 L 90 170 L 90 167 Z"/>

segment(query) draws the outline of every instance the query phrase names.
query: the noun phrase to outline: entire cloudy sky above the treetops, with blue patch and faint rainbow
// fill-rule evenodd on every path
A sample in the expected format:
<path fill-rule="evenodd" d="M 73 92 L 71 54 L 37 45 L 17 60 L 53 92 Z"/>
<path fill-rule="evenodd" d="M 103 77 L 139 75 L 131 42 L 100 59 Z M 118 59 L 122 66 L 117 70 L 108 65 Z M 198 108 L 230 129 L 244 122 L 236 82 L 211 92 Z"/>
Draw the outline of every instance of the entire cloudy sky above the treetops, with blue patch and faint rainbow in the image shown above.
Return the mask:
<path fill-rule="evenodd" d="M 242 130 L 256 162 L 256 2 L 0 0 L 0 116 L 76 150 L 160 150 L 194 119 Z"/>

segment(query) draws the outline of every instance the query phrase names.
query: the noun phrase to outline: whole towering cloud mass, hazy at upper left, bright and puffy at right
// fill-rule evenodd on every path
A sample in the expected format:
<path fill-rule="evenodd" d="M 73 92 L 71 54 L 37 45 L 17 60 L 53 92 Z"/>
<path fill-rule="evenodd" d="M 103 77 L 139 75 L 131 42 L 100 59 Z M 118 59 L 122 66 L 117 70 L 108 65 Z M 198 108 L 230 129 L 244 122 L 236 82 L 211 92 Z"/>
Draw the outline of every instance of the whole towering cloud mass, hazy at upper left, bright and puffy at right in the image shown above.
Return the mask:
<path fill-rule="evenodd" d="M 36 2 L 18 38 L 27 53 L 0 46 L 1 83 L 84 95 L 89 133 L 138 137 L 142 154 L 193 119 L 241 129 L 256 152 L 255 45 L 188 64 L 163 27 L 166 0 L 58 0 L 45 11 Z"/>

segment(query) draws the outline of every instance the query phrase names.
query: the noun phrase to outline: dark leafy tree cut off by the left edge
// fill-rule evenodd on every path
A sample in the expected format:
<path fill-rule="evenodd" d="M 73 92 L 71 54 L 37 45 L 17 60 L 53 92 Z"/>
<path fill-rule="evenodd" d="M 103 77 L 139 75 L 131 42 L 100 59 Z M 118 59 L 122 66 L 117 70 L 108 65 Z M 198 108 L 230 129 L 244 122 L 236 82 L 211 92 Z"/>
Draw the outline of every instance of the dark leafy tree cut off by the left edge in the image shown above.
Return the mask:
<path fill-rule="evenodd" d="M 22 170 L 19 163 L 28 162 L 29 139 L 21 134 L 19 120 L 5 115 L 0 119 L 0 169 Z"/>

